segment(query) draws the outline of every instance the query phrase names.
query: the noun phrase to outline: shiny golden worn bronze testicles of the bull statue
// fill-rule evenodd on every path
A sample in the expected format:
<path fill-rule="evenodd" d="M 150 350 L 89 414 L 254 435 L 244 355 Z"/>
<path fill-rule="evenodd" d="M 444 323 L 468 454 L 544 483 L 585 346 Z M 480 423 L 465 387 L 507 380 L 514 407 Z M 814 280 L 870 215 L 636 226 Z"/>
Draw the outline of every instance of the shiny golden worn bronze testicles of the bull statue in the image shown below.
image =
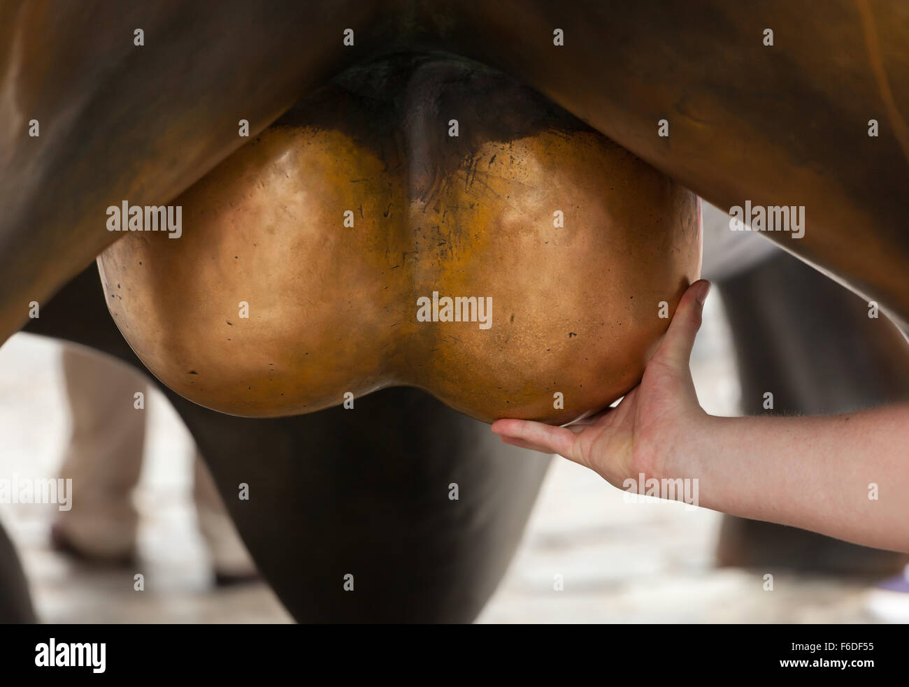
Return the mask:
<path fill-rule="evenodd" d="M 237 415 L 411 385 L 567 423 L 638 382 L 700 271 L 694 194 L 448 58 L 348 71 L 173 204 L 179 238 L 99 257 L 107 303 L 163 383 Z"/>

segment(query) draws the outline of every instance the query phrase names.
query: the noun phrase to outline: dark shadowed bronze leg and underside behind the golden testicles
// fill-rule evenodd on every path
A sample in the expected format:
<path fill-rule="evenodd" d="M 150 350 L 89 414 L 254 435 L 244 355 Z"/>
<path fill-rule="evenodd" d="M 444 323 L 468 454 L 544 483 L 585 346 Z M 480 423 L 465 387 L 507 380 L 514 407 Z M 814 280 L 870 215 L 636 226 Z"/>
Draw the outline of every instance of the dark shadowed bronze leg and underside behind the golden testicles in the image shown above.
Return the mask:
<path fill-rule="evenodd" d="M 94 266 L 28 331 L 145 371 L 107 313 Z M 352 410 L 266 420 L 165 393 L 260 572 L 301 622 L 473 620 L 514 553 L 549 462 L 414 389 L 374 393 Z"/>

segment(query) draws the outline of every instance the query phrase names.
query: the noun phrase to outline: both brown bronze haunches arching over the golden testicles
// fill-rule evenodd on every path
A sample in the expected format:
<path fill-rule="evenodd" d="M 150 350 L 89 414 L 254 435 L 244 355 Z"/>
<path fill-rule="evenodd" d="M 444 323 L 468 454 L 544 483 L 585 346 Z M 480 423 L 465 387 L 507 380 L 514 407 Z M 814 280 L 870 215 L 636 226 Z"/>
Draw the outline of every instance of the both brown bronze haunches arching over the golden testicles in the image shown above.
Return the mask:
<path fill-rule="evenodd" d="M 909 4 L 11 1 L 0 19 L 0 340 L 115 239 L 108 204 L 169 202 L 242 143 L 239 118 L 255 133 L 344 65 L 418 48 L 516 76 L 715 204 L 803 204 L 804 239 L 768 237 L 909 322 Z"/>

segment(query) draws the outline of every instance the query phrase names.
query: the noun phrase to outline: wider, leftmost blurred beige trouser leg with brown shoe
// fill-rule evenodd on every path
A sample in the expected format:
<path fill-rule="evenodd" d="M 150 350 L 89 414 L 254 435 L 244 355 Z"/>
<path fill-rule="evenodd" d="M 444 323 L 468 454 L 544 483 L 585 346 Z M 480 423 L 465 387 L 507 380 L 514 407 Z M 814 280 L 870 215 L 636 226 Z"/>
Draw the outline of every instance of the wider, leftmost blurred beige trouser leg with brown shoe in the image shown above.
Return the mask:
<path fill-rule="evenodd" d="M 138 513 L 132 495 L 142 469 L 145 379 L 124 364 L 67 346 L 63 353 L 72 431 L 60 474 L 73 480 L 73 507 L 58 513 L 57 548 L 99 562 L 135 553 Z"/>

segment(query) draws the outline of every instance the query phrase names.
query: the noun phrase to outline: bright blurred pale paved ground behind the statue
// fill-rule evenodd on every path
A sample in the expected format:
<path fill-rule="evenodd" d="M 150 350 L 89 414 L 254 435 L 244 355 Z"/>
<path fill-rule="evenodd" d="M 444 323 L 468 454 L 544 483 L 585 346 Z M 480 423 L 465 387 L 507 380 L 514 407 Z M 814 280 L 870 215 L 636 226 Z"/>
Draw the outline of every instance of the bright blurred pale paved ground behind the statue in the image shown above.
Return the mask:
<path fill-rule="evenodd" d="M 718 299 L 694 354 L 705 408 L 731 414 L 734 368 Z M 0 350 L 0 476 L 50 476 L 68 431 L 55 343 L 17 334 Z M 191 440 L 174 411 L 146 403 L 149 442 L 136 494 L 143 513 L 132 574 L 75 565 L 47 546 L 50 507 L 0 505 L 45 622 L 289 622 L 265 585 L 216 591 L 189 503 Z M 558 459 L 504 582 L 479 622 L 874 622 L 861 583 L 717 570 L 719 515 L 674 503 L 625 503 L 593 473 Z M 554 590 L 555 575 L 564 590 Z"/>

